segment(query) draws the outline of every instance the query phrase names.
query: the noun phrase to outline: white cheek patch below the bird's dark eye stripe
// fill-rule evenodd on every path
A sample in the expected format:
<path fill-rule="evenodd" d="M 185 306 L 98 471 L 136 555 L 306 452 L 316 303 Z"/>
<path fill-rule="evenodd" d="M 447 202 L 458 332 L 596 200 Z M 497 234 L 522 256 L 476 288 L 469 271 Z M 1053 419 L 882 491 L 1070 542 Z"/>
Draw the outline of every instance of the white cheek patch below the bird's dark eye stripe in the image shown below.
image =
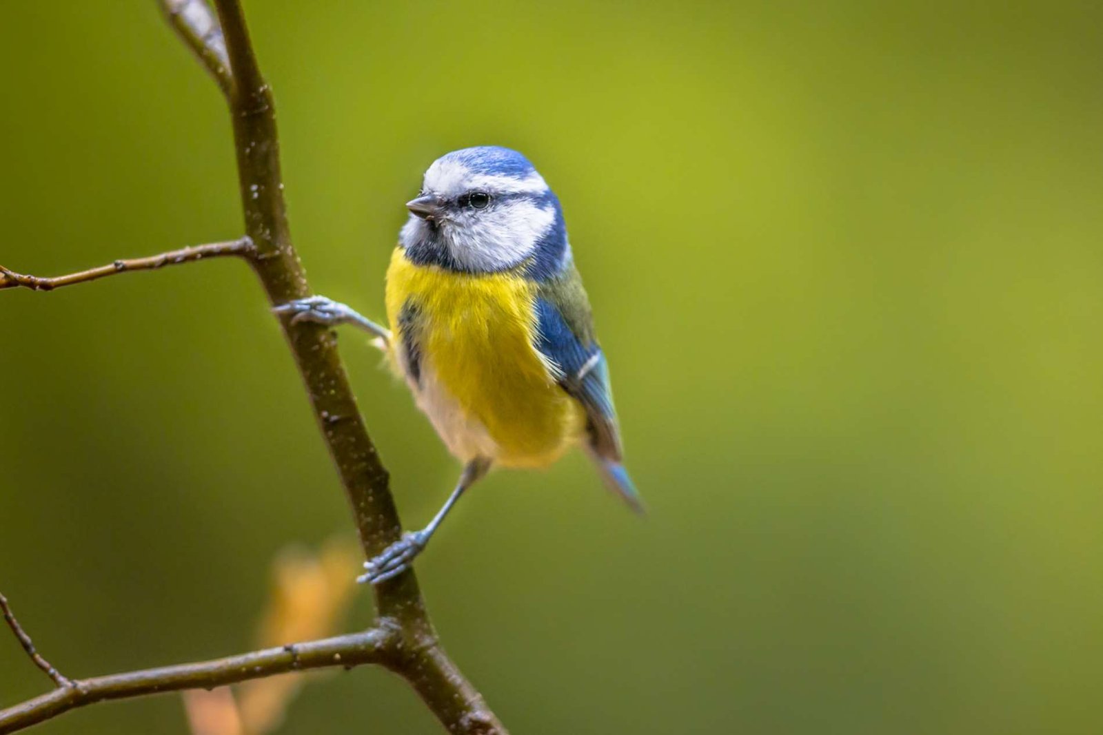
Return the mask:
<path fill-rule="evenodd" d="M 472 216 L 463 227 L 445 228 L 452 258 L 467 270 L 491 272 L 520 264 L 555 225 L 555 209 L 520 199 Z"/>

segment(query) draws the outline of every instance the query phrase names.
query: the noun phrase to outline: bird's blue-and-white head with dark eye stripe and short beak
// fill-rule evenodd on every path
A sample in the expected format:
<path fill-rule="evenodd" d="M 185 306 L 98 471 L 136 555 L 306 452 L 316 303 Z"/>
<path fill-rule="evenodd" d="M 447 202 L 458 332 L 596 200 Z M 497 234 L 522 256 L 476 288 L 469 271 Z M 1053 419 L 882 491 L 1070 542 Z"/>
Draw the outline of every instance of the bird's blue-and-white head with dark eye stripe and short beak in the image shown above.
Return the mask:
<path fill-rule="evenodd" d="M 419 264 L 493 273 L 527 263 L 542 275 L 558 270 L 567 253 L 559 201 L 528 159 L 507 148 L 442 155 L 406 206 L 400 245 Z"/>

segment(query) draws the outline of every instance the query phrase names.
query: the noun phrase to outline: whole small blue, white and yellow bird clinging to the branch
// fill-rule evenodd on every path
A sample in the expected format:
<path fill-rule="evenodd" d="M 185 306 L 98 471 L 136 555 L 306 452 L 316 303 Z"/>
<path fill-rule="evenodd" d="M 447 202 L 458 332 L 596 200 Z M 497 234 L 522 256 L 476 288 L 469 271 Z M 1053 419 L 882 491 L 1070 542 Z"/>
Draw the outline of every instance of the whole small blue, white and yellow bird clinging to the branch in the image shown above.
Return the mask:
<path fill-rule="evenodd" d="M 545 467 L 575 445 L 642 510 L 563 209 L 543 176 L 516 151 L 467 148 L 437 159 L 406 206 L 387 269 L 390 329 L 324 296 L 277 307 L 296 322 L 355 324 L 378 337 L 464 464 L 432 521 L 366 562 L 361 581 L 404 572 L 491 467 Z"/>

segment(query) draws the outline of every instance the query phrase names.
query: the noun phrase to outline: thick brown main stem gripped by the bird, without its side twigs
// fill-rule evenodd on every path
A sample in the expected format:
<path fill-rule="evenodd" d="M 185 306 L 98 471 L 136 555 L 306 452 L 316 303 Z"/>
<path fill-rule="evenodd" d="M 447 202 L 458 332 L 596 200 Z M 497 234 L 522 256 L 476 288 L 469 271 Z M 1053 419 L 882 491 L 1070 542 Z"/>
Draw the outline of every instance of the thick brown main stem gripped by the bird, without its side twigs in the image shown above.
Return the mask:
<path fill-rule="evenodd" d="M 287 225 L 275 102 L 260 74 L 239 0 L 214 0 L 214 4 L 235 79 L 229 108 L 246 233 L 261 253 L 253 264 L 268 299 L 279 305 L 309 296 L 311 291 Z M 371 559 L 401 532 L 389 475 L 367 435 L 330 329 L 291 324 L 290 316 L 281 324 L 352 504 L 364 553 Z M 389 668 L 414 687 L 449 732 L 504 735 L 505 727 L 482 695 L 445 653 L 414 571 L 373 588 L 381 620 L 393 620 L 403 631 L 404 656 L 388 663 Z"/>

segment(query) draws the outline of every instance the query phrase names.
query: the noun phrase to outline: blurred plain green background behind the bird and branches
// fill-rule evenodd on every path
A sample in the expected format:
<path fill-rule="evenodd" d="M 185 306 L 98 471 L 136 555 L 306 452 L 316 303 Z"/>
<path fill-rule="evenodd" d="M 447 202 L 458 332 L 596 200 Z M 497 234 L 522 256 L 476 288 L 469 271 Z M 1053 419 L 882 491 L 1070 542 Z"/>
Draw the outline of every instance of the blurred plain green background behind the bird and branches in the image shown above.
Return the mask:
<path fill-rule="evenodd" d="M 651 514 L 572 455 L 419 562 L 514 733 L 1103 731 L 1100 6 L 246 4 L 319 292 L 383 313 L 446 151 L 517 148 L 564 203 Z M 2 14 L 0 263 L 242 231 L 153 2 Z M 242 264 L 4 292 L 0 334 L 0 590 L 67 673 L 249 647 L 277 550 L 351 528 Z M 458 465 L 342 341 L 420 525 Z M 0 704 L 47 683 L 0 631 Z M 186 726 L 167 695 L 36 732 Z M 438 728 L 358 669 L 283 732 Z"/>

